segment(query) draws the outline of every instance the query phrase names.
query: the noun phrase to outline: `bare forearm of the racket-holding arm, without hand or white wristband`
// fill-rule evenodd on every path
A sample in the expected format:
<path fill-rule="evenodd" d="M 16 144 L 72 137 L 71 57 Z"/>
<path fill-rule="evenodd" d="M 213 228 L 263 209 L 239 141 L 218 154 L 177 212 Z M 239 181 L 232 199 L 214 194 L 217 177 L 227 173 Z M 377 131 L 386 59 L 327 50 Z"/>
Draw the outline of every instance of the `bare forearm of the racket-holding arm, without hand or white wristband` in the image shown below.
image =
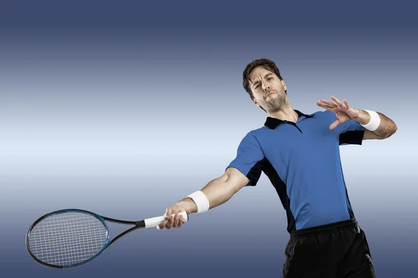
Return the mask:
<path fill-rule="evenodd" d="M 201 191 L 209 200 L 209 209 L 224 204 L 236 193 L 235 188 L 233 186 L 229 186 L 229 181 L 225 176 L 213 179 L 206 184 Z M 193 200 L 189 197 L 180 200 L 177 204 L 185 208 L 187 213 L 197 212 L 196 204 L 194 204 Z"/>

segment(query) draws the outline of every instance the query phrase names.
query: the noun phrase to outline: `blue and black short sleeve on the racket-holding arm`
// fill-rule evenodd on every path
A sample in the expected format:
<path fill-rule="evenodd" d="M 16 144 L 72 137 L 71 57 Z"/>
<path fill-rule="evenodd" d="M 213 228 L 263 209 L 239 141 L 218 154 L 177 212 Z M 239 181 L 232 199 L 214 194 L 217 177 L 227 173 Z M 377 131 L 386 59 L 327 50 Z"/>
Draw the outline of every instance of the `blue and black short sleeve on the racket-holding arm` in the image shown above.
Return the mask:
<path fill-rule="evenodd" d="M 238 146 L 237 156 L 229 166 L 238 169 L 250 180 L 247 186 L 256 186 L 263 170 L 264 154 L 260 143 L 251 131 L 247 133 Z"/>

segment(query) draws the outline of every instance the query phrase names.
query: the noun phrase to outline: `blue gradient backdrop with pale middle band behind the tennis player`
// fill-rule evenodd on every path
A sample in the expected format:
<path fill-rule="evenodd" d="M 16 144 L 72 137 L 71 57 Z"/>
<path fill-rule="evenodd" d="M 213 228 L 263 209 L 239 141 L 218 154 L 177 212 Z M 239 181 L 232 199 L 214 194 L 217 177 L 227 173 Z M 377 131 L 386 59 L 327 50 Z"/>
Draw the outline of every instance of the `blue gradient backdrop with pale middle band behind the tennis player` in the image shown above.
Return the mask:
<path fill-rule="evenodd" d="M 1 277 L 281 277 L 286 215 L 264 175 L 181 229 L 134 232 L 82 268 L 43 268 L 24 245 L 49 211 L 140 220 L 219 177 L 265 121 L 241 85 L 264 57 L 304 113 L 336 95 L 396 122 L 395 136 L 343 146 L 341 159 L 377 276 L 416 277 L 415 7 L 115 3 L 0 9 Z"/>

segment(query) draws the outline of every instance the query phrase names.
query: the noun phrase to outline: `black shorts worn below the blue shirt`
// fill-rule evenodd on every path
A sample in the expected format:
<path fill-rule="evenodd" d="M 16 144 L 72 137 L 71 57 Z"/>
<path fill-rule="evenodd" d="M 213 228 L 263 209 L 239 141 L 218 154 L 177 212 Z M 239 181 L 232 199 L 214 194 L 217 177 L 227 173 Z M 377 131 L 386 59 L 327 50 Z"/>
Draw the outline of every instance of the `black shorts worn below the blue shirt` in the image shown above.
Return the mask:
<path fill-rule="evenodd" d="M 376 278 L 355 219 L 292 231 L 285 254 L 283 278 Z"/>

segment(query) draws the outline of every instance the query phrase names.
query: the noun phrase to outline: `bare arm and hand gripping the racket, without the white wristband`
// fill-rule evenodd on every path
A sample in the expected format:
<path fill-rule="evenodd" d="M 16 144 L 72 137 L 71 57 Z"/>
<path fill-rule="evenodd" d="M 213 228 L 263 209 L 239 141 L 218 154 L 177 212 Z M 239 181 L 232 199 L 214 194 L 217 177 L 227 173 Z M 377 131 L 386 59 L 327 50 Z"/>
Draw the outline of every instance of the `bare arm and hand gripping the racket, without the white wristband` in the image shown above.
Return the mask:
<path fill-rule="evenodd" d="M 233 167 L 226 169 L 224 174 L 210 181 L 206 186 L 201 189 L 209 201 L 209 209 L 215 208 L 221 204 L 224 204 L 226 201 L 231 199 L 231 197 L 238 192 L 241 188 L 246 186 L 249 183 L 249 179 L 245 177 L 242 172 Z M 179 228 L 183 224 L 183 218 L 178 216 L 178 213 L 186 211 L 187 214 L 196 213 L 197 207 L 194 204 L 193 200 L 189 197 L 176 202 L 172 206 L 167 208 L 166 214 L 166 224 L 160 224 L 159 229 L 167 228 Z M 172 217 L 172 214 L 176 213 L 176 217 Z"/>

